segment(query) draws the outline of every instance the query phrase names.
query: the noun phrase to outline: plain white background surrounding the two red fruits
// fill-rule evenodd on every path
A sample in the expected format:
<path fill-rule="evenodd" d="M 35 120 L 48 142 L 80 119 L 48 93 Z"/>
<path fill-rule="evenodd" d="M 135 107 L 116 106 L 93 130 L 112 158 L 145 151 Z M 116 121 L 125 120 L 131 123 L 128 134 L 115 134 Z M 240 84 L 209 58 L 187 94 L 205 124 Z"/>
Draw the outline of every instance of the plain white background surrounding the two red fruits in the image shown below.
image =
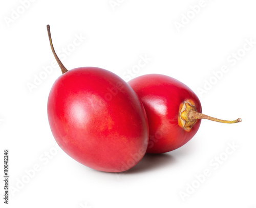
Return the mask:
<path fill-rule="evenodd" d="M 3 175 L 4 149 L 9 149 L 13 190 L 8 206 L 255 208 L 255 1 L 205 0 L 200 11 L 195 7 L 199 1 L 113 2 L 119 3 L 112 7 L 109 0 L 37 0 L 25 9 L 18 0 L 1 2 L 0 169 Z M 192 8 L 198 9 L 197 14 Z M 203 120 L 186 145 L 145 155 L 127 173 L 83 166 L 56 149 L 48 124 L 48 94 L 61 71 L 55 67 L 44 73 L 43 67 L 50 69 L 54 60 L 47 24 L 68 69 L 96 66 L 124 79 L 146 55 L 151 61 L 133 77 L 148 73 L 175 77 L 200 96 L 203 113 L 243 121 Z M 86 39 L 74 46 L 77 36 Z M 246 41 L 254 43 L 245 45 L 244 51 Z M 65 48 L 69 55 L 63 55 Z M 217 80 L 214 73 L 223 65 L 228 71 Z M 35 81 L 39 75 L 45 75 L 41 83 Z M 207 82 L 212 84 L 206 86 Z M 236 146 L 230 154 L 225 153 L 228 143 Z M 212 165 L 220 155 L 221 164 Z M 34 167 L 39 171 L 33 173 Z M 205 169 L 210 176 L 198 183 L 195 175 Z M 199 187 L 182 198 L 181 192 L 190 185 Z"/>

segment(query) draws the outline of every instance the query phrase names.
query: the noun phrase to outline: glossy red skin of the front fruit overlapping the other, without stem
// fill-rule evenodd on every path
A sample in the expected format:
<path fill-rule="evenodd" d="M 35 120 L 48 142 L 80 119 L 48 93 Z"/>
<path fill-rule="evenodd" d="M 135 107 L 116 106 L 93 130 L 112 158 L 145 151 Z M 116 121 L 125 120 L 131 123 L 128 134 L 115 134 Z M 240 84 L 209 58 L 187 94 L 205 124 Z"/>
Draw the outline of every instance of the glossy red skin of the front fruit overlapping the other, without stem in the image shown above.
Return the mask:
<path fill-rule="evenodd" d="M 108 70 L 81 67 L 62 74 L 49 94 L 48 119 L 58 145 L 96 170 L 126 171 L 147 148 L 144 107 L 134 90 Z"/>

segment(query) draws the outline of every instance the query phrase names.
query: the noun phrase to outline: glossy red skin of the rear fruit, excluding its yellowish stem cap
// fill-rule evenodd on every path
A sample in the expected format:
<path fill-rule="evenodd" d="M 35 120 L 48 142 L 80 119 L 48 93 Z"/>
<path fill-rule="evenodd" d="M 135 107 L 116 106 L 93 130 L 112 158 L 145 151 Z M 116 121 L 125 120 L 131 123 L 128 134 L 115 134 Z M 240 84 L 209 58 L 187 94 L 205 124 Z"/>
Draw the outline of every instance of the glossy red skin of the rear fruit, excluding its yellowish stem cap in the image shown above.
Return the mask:
<path fill-rule="evenodd" d="M 164 153 L 187 143 L 198 131 L 201 119 L 189 132 L 178 124 L 180 104 L 193 100 L 195 108 L 202 113 L 197 95 L 178 80 L 161 74 L 136 77 L 128 84 L 139 95 L 146 110 L 150 141 L 147 153 Z"/>

